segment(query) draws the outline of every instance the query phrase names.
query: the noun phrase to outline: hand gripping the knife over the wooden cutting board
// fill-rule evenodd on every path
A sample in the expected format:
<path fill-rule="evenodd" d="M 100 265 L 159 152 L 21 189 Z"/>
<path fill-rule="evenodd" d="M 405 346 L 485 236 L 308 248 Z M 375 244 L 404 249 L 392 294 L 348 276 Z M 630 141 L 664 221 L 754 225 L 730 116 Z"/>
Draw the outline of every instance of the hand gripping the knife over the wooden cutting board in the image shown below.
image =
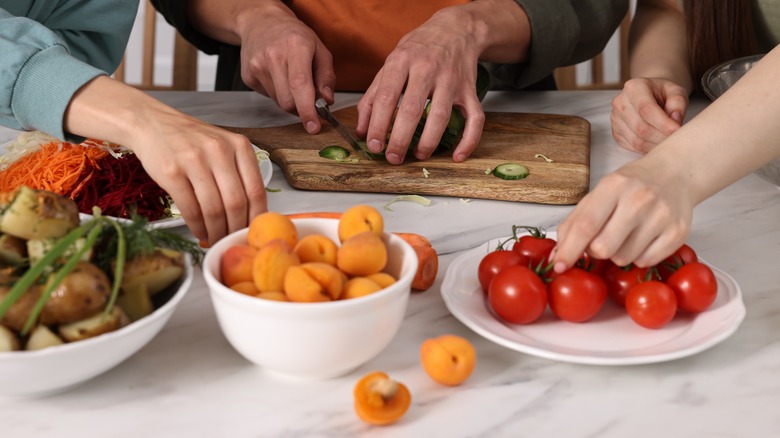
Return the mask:
<path fill-rule="evenodd" d="M 314 101 L 334 103 L 333 56 L 289 10 L 264 13 L 240 34 L 241 79 L 283 110 L 298 114 L 306 132 L 320 131 Z"/>

